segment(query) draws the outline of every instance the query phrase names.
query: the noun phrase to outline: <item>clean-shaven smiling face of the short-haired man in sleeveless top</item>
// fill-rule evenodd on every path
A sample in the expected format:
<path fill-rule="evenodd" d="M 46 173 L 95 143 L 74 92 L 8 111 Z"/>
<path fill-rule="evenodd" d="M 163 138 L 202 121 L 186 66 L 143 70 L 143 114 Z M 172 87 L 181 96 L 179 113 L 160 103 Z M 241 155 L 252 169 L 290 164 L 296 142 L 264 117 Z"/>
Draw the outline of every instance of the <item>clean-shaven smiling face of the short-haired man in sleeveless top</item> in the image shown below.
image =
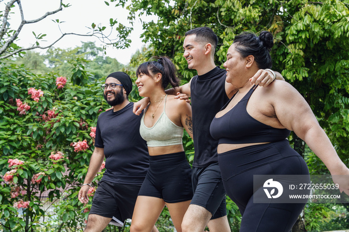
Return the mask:
<path fill-rule="evenodd" d="M 200 66 L 204 64 L 205 59 L 205 44 L 199 42 L 196 35 L 187 35 L 183 43 L 184 53 L 183 56 L 188 63 L 188 69 L 200 69 Z"/>

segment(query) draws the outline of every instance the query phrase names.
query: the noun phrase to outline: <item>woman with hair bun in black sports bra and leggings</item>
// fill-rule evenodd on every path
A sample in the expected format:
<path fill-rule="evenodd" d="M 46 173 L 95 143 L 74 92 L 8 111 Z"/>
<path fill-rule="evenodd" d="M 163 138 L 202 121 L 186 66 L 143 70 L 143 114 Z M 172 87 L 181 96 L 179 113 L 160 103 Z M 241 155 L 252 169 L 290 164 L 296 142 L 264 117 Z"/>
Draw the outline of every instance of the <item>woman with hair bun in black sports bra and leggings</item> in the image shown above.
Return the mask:
<path fill-rule="evenodd" d="M 267 31 L 262 31 L 259 37 L 252 33 L 235 37 L 224 67 L 226 82 L 238 87 L 238 92 L 210 125 L 212 137 L 218 140 L 224 188 L 242 215 L 240 232 L 289 232 L 304 208 L 307 199 L 287 202 L 291 192 L 289 181 L 298 178 L 296 175 L 306 181 L 303 183 L 310 181 L 306 162 L 287 140 L 291 130 L 325 163 L 339 189 L 349 194 L 349 169 L 300 93 L 279 80 L 266 87 L 251 88 L 249 79 L 259 69 L 272 67 L 269 54 L 272 46 L 273 36 Z M 274 178 L 261 179 L 259 183 L 254 175 Z M 291 179 L 277 175 L 288 175 Z M 284 186 L 283 191 L 277 182 Z M 271 183 L 278 188 L 268 189 L 273 187 Z M 267 203 L 256 203 L 263 197 Z"/>

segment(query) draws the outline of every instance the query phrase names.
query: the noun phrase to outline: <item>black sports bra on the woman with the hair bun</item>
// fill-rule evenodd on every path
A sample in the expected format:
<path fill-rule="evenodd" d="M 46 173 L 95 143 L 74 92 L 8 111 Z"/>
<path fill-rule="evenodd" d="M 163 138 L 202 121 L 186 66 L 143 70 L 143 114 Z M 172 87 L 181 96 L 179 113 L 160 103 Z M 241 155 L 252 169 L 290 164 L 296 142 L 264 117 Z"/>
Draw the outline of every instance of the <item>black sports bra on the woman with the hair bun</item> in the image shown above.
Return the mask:
<path fill-rule="evenodd" d="M 276 142 L 290 135 L 290 130 L 271 127 L 247 113 L 247 102 L 256 88 L 253 86 L 241 101 L 225 115 L 213 118 L 210 125 L 210 133 L 213 138 L 218 140 L 218 144 Z M 231 99 L 234 97 L 235 95 Z M 222 110 L 226 108 L 229 102 Z"/>

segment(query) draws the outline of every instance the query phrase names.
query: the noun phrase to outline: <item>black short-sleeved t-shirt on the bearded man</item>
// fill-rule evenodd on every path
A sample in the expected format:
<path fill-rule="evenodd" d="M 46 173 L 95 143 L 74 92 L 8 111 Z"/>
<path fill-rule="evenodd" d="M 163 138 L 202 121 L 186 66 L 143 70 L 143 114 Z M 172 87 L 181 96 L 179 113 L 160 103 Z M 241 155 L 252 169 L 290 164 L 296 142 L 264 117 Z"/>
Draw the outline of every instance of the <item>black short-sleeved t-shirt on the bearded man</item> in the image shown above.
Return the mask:
<path fill-rule="evenodd" d="M 132 113 L 133 103 L 122 110 L 102 113 L 97 120 L 95 147 L 104 148 L 106 171 L 102 180 L 142 184 L 149 167 L 146 141 L 140 135 L 141 116 Z"/>

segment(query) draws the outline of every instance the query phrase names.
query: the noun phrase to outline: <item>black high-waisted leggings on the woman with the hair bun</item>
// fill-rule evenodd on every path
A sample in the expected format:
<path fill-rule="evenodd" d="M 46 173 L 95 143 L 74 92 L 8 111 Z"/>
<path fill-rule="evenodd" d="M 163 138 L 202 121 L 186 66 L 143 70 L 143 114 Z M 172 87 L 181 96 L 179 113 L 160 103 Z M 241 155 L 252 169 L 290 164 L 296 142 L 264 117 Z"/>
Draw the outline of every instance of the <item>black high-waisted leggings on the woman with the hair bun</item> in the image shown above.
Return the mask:
<path fill-rule="evenodd" d="M 254 192 L 253 175 L 309 176 L 306 162 L 288 140 L 227 151 L 218 154 L 218 162 L 225 191 L 242 215 L 240 232 L 291 231 L 306 203 L 253 203 L 254 197 L 265 195 L 263 184 Z"/>

